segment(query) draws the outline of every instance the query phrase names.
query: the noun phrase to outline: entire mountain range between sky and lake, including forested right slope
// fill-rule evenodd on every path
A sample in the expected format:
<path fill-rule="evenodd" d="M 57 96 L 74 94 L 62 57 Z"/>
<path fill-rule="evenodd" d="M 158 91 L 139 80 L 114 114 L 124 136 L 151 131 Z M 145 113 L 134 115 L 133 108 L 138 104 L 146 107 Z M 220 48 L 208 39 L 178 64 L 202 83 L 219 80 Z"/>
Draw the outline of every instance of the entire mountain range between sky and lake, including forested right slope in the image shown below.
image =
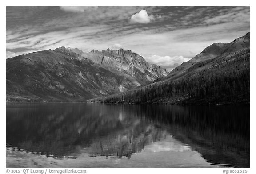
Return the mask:
<path fill-rule="evenodd" d="M 6 101 L 249 103 L 250 33 L 213 43 L 170 73 L 123 49 L 19 55 L 6 59 Z"/>

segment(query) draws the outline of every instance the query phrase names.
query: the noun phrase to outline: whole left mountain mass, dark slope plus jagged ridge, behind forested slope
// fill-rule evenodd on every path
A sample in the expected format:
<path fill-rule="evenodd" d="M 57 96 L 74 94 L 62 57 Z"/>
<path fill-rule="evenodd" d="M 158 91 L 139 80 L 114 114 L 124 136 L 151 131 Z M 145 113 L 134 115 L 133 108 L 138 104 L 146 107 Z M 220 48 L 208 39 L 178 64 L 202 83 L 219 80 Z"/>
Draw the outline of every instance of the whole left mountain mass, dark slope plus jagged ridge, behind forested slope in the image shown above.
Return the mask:
<path fill-rule="evenodd" d="M 81 50 L 60 47 L 6 59 L 6 101 L 85 101 L 167 74 L 128 52 L 92 51 L 86 58 Z"/>

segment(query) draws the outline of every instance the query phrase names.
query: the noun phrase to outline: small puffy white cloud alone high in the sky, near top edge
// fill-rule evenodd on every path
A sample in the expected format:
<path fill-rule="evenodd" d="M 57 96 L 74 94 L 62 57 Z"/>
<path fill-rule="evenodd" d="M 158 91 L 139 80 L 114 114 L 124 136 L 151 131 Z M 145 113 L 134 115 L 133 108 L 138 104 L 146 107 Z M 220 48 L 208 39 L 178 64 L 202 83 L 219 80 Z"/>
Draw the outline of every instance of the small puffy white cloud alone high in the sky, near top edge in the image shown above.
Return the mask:
<path fill-rule="evenodd" d="M 131 23 L 150 23 L 154 20 L 154 16 L 148 15 L 146 10 L 140 10 L 140 12 L 132 15 L 130 19 Z"/>

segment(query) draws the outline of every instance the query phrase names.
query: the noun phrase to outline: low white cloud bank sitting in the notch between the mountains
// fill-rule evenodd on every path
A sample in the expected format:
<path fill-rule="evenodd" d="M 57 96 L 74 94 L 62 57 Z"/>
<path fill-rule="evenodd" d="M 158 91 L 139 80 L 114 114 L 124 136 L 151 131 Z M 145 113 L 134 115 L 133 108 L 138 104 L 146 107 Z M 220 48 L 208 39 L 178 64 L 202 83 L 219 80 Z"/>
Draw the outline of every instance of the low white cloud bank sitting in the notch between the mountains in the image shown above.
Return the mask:
<path fill-rule="evenodd" d="M 151 57 L 147 57 L 146 60 L 150 63 L 154 63 L 156 65 L 162 66 L 167 70 L 172 70 L 175 67 L 179 66 L 183 62 L 189 61 L 191 58 L 184 58 L 183 56 L 158 56 L 153 55 Z"/>

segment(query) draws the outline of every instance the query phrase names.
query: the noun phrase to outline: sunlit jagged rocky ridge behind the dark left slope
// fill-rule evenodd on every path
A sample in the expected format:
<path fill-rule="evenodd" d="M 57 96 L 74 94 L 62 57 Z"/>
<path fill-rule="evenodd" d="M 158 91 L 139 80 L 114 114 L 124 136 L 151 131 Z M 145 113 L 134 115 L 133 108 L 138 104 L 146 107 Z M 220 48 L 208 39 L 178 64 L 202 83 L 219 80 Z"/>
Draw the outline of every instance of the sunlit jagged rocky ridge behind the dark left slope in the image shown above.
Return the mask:
<path fill-rule="evenodd" d="M 121 48 L 119 50 L 92 50 L 89 53 L 83 53 L 78 49 L 68 49 L 100 64 L 108 70 L 118 71 L 134 78 L 137 81 L 137 86 L 147 84 L 168 74 L 166 69 L 148 63 L 142 56 L 133 53 L 131 50 L 123 50 Z M 125 88 L 128 89 L 127 87 Z"/>

